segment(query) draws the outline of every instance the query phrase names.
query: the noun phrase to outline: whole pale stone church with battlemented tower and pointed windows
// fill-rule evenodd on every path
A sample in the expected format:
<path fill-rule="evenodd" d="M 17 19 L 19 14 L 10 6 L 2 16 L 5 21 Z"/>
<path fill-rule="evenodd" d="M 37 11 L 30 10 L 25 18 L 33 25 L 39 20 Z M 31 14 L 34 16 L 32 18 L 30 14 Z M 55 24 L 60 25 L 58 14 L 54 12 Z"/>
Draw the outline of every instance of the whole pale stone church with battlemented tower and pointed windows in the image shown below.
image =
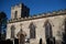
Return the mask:
<path fill-rule="evenodd" d="M 66 10 L 30 16 L 23 3 L 11 7 L 7 24 L 7 40 L 19 38 L 19 44 L 63 44 L 66 34 Z"/>

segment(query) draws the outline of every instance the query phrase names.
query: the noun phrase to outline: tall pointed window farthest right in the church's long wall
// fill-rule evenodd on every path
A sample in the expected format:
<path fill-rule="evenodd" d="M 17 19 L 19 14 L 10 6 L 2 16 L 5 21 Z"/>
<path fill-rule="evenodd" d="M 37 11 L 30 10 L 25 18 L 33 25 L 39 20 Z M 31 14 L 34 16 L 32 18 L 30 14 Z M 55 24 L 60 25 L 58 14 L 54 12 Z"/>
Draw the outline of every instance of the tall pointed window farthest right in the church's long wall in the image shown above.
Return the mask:
<path fill-rule="evenodd" d="M 52 37 L 52 25 L 48 22 L 48 20 L 45 22 L 44 25 L 45 25 L 45 37 L 46 38 Z"/>

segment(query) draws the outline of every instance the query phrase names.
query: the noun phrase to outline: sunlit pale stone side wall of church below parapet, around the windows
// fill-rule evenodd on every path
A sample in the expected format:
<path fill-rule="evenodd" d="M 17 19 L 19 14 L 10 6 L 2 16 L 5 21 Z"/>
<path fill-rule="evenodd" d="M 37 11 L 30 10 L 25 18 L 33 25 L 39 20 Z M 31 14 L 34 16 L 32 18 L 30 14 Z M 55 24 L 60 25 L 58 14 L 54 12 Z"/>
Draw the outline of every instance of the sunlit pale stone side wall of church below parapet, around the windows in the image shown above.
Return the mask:
<path fill-rule="evenodd" d="M 7 28 L 7 38 L 10 38 L 11 36 L 11 25 L 15 26 L 15 37 L 18 32 L 20 31 L 21 26 L 20 24 L 22 24 L 22 30 L 26 33 L 26 37 L 30 37 L 30 29 L 29 25 L 33 22 L 36 26 L 35 31 L 35 38 L 30 38 L 30 43 L 31 44 L 38 44 L 40 43 L 40 38 L 42 38 L 43 44 L 46 44 L 46 38 L 45 38 L 45 21 L 48 20 L 50 23 L 52 24 L 52 30 L 53 30 L 53 36 L 55 37 L 55 40 L 59 40 L 62 41 L 62 33 L 63 33 L 63 23 L 65 20 L 66 15 L 56 15 L 56 16 L 48 16 L 48 18 L 41 18 L 41 19 L 34 19 L 34 20 L 28 20 L 28 21 L 20 21 L 20 22 L 13 22 L 13 23 L 8 23 L 8 28 Z M 59 32 L 61 34 L 58 35 L 57 32 Z"/>

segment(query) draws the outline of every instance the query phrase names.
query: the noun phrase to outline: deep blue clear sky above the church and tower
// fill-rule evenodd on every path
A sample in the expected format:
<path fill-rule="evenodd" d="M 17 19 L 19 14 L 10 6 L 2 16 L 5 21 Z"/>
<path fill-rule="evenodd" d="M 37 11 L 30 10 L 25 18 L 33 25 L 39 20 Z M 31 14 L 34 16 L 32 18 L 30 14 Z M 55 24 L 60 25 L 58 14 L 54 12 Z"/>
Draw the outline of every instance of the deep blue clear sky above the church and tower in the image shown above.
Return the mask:
<path fill-rule="evenodd" d="M 0 0 L 0 11 L 10 19 L 11 7 L 21 2 L 30 8 L 30 14 L 66 9 L 66 0 Z"/>

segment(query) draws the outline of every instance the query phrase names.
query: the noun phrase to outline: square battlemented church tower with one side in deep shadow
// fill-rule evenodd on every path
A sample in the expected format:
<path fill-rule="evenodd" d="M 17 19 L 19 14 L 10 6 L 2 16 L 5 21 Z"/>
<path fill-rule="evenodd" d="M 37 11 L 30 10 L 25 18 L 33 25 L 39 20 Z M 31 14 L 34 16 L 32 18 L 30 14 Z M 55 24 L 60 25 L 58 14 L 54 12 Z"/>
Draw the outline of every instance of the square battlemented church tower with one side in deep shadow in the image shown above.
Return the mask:
<path fill-rule="evenodd" d="M 30 9 L 23 3 L 11 7 L 11 19 L 25 18 L 30 15 Z"/>

